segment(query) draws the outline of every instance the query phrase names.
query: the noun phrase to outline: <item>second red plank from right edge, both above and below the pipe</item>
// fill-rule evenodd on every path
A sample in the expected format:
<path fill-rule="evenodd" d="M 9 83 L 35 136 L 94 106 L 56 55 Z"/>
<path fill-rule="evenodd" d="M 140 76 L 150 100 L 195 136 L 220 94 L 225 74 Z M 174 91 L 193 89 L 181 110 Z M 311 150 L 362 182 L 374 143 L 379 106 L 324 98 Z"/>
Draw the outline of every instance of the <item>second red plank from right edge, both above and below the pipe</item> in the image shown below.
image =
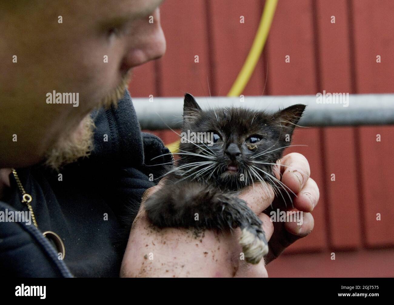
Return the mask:
<path fill-rule="evenodd" d="M 313 5 L 316 6 L 315 30 L 318 31 L 318 92 L 323 93 L 325 90 L 330 93 L 349 93 L 352 91 L 351 50 L 346 2 L 316 1 Z M 331 22 L 332 16 L 335 23 Z M 348 107 L 348 110 L 351 111 L 351 107 Z M 325 158 L 322 187 L 325 187 L 326 191 L 326 219 L 329 231 L 327 239 L 333 249 L 361 246 L 357 182 L 351 178 L 357 176 L 353 158 L 356 145 L 353 132 L 354 127 L 322 129 Z M 331 174 L 335 174 L 335 181 L 331 181 Z"/>

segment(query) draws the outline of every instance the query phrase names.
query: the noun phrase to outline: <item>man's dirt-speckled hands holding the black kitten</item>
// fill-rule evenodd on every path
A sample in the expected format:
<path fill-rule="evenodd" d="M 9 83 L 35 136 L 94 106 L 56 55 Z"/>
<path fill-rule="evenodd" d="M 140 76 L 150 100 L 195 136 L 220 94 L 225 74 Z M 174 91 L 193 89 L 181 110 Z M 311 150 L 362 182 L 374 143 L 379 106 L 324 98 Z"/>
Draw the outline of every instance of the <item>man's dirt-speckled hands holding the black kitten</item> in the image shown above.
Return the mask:
<path fill-rule="evenodd" d="M 264 210 L 269 208 L 275 193 L 268 184 L 255 183 L 242 192 L 240 198 L 263 222 L 263 229 L 269 241 L 267 262 L 276 258 L 286 247 L 297 239 L 308 235 L 314 225 L 309 213 L 316 206 L 319 190 L 309 178 L 308 161 L 298 153 L 290 153 L 281 159 L 277 178 L 287 185 L 297 197 L 294 209 L 303 211 L 303 225 L 297 223 L 272 223 Z M 144 194 L 139 213 L 134 220 L 125 255 L 122 277 L 267 277 L 264 261 L 248 264 L 243 260 L 240 247 L 239 229 L 196 231 L 184 228 L 158 229 L 147 219 L 145 199 L 157 190 L 152 187 Z M 294 210 L 292 209 L 292 210 Z M 267 211 L 266 211 L 267 212 Z"/>

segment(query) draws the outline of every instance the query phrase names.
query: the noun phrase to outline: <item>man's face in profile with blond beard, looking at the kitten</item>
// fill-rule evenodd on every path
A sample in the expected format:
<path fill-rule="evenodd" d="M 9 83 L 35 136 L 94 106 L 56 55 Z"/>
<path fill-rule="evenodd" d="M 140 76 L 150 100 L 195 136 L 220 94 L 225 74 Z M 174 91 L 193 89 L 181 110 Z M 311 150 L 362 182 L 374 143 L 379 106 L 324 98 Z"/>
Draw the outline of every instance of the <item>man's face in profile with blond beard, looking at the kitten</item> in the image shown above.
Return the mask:
<path fill-rule="evenodd" d="M 0 1 L 0 168 L 45 159 L 59 168 L 89 154 L 88 114 L 116 103 L 127 72 L 165 52 L 161 2 Z M 80 103 L 48 104 L 53 91 Z"/>

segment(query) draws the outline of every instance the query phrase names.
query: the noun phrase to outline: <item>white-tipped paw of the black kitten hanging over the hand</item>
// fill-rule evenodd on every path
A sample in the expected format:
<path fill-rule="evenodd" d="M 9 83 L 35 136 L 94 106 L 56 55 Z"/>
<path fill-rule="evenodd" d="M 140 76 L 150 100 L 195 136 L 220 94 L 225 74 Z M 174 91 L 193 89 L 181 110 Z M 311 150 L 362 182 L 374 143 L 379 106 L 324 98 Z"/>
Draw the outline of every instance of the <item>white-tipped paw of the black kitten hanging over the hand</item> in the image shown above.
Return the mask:
<path fill-rule="evenodd" d="M 240 245 L 246 261 L 250 264 L 258 264 L 263 256 L 268 253 L 268 243 L 264 233 L 251 228 L 242 229 Z"/>

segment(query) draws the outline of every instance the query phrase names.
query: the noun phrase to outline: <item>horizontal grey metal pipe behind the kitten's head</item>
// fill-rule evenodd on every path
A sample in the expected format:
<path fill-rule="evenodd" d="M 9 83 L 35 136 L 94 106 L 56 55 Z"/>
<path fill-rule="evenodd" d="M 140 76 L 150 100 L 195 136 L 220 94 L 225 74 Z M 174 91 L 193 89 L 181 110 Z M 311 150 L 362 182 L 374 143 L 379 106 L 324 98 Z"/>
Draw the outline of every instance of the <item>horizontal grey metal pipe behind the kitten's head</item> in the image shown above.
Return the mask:
<path fill-rule="evenodd" d="M 323 92 L 322 99 L 327 100 Z M 150 101 L 152 100 L 152 101 Z M 248 107 L 275 112 L 294 104 L 308 105 L 299 121 L 301 126 L 383 125 L 394 124 L 394 94 L 350 94 L 339 103 L 318 103 L 316 95 L 196 97 L 202 109 L 212 107 Z M 338 101 L 337 101 L 338 102 Z M 183 97 L 133 98 L 142 129 L 180 128 Z M 168 125 L 168 126 L 167 126 Z"/>

